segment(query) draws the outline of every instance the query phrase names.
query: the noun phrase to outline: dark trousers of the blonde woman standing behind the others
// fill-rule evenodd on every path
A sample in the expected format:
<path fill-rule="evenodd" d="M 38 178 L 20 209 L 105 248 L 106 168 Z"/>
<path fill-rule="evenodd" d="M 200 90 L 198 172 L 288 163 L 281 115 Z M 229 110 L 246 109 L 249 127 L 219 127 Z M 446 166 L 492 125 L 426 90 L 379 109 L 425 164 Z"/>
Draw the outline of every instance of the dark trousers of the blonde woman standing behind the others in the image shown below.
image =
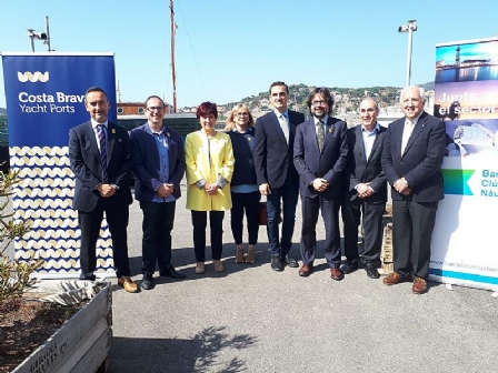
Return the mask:
<path fill-rule="evenodd" d="M 231 213 L 230 225 L 233 241 L 236 244 L 242 243 L 243 231 L 243 212 L 246 211 L 247 232 L 249 235 L 249 244 L 258 243 L 259 216 L 258 208 L 261 194 L 259 191 L 250 193 L 231 193 Z"/>

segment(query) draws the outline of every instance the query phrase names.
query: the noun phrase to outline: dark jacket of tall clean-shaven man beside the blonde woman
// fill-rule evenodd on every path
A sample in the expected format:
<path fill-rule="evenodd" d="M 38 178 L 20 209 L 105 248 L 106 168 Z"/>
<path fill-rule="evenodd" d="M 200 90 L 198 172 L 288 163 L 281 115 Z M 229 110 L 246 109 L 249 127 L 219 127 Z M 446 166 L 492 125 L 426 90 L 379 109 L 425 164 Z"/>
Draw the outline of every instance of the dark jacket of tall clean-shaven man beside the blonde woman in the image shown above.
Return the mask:
<path fill-rule="evenodd" d="M 289 110 L 289 145 L 275 112 L 265 114 L 256 121 L 255 169 L 259 185 L 269 183 L 270 188 L 280 188 L 289 178 L 297 183 L 299 175 L 293 167 L 293 138 L 296 127 L 305 121 L 300 112 Z"/>

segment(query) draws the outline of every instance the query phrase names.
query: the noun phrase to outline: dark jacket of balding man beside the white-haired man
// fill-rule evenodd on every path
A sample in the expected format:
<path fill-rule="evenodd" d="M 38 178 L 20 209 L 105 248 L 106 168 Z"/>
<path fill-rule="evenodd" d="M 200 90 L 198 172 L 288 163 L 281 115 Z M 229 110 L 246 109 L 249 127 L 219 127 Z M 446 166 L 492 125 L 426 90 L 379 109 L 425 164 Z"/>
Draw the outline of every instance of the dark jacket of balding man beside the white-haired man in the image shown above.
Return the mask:
<path fill-rule="evenodd" d="M 384 137 L 387 129 L 379 125 L 368 160 L 365 158 L 365 144 L 361 133 L 361 124 L 348 130 L 349 159 L 345 168 L 345 198 L 349 201 L 357 199 L 358 192 L 355 186 L 360 183 L 370 183 L 374 194 L 361 201 L 371 203 L 387 202 L 387 182 L 382 171 L 381 158 Z"/>

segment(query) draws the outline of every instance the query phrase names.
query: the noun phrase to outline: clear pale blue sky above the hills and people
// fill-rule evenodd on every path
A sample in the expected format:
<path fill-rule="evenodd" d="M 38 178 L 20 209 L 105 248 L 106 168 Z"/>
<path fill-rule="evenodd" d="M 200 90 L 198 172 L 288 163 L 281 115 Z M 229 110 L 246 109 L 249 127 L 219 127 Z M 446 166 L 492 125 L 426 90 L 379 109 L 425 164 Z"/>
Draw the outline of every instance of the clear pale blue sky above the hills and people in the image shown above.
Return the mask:
<path fill-rule="evenodd" d="M 0 52 L 113 52 L 121 101 L 172 103 L 169 0 L 0 0 Z M 237 102 L 271 82 L 402 87 L 434 81 L 436 44 L 498 34 L 498 0 L 175 0 L 178 108 Z M 36 41 L 36 51 L 46 51 Z M 1 63 L 0 63 L 1 69 Z M 3 72 L 0 108 L 6 107 Z"/>

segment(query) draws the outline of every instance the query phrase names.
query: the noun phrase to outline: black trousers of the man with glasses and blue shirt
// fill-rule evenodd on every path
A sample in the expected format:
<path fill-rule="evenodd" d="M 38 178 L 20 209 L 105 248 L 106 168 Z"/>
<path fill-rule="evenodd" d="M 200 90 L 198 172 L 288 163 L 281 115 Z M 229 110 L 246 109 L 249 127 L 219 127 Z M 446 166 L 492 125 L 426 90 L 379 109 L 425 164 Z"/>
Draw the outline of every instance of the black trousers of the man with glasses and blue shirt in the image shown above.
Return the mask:
<path fill-rule="evenodd" d="M 153 274 L 171 266 L 171 230 L 177 202 L 140 202 L 142 221 L 142 273 Z"/>

